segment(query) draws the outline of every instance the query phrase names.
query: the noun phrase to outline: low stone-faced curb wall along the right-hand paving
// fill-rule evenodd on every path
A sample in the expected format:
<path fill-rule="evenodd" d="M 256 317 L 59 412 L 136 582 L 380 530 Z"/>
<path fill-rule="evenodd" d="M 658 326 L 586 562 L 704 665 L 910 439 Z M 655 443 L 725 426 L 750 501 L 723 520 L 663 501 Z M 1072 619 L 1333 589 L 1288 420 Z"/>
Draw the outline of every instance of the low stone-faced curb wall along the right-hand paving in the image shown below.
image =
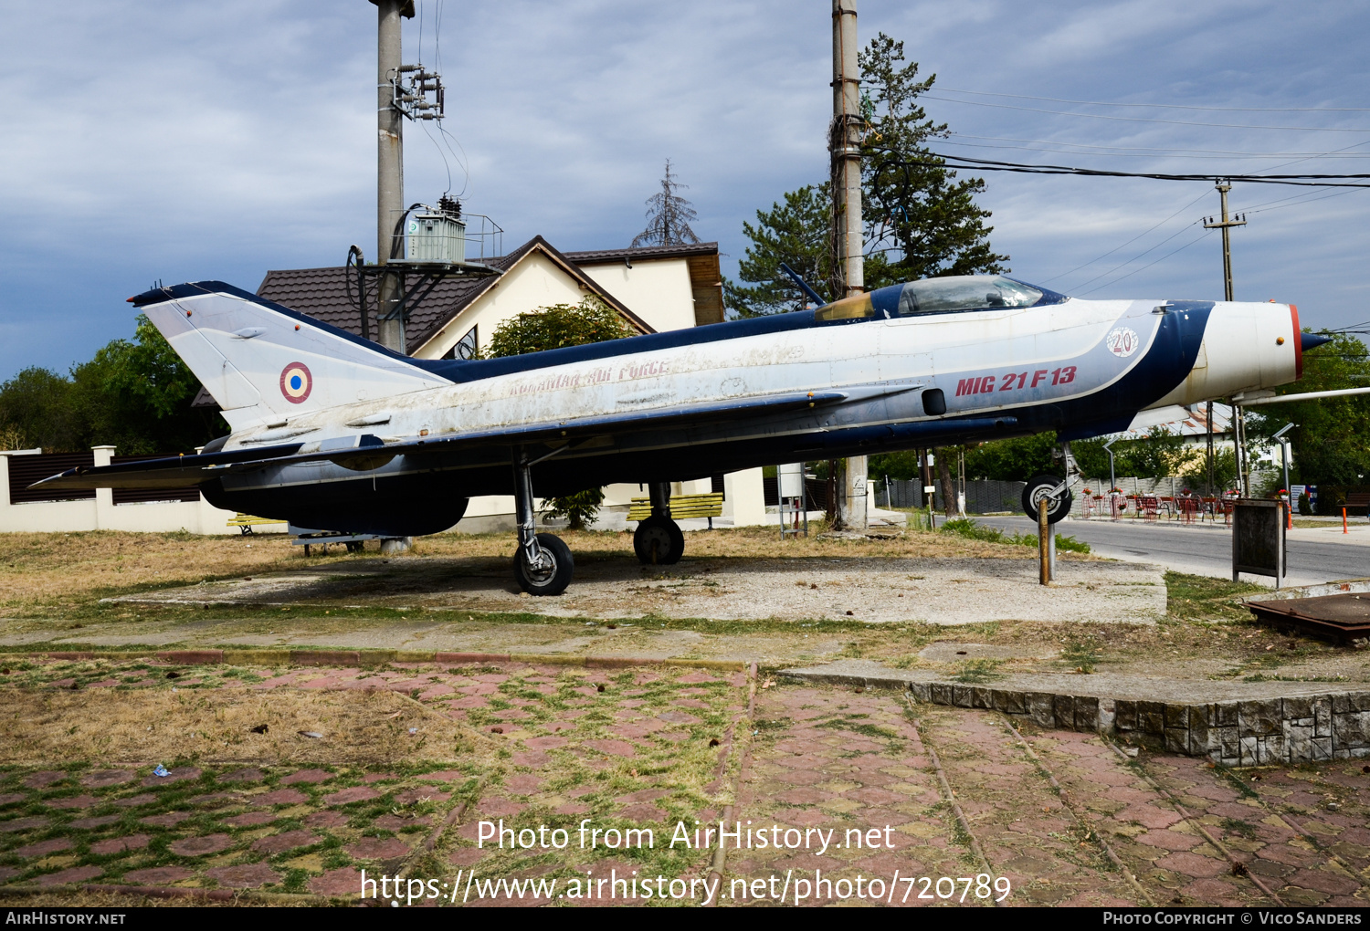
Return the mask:
<path fill-rule="evenodd" d="M 780 669 L 801 682 L 896 689 L 914 700 L 1028 717 L 1043 728 L 1100 732 L 1229 767 L 1370 757 L 1370 691 L 1226 701 L 1075 696 L 907 676 Z"/>

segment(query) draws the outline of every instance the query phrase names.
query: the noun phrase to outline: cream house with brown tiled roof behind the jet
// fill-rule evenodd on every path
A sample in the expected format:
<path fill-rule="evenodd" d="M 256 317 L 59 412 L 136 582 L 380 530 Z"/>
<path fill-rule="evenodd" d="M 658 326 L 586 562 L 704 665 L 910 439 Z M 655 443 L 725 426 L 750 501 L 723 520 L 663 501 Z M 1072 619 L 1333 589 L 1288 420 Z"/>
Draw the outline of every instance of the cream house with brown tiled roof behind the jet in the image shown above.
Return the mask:
<path fill-rule="evenodd" d="M 723 285 L 717 242 L 655 245 L 596 252 L 560 252 L 536 235 L 512 252 L 485 259 L 500 274 L 440 281 L 411 308 L 404 341 L 419 359 L 466 359 L 518 314 L 551 304 L 578 304 L 593 294 L 618 311 L 634 333 L 662 333 L 723 322 Z M 363 333 L 355 270 L 269 271 L 258 294 L 349 333 Z M 351 275 L 351 282 L 349 282 Z M 375 304 L 366 333 L 377 333 Z M 723 516 L 734 526 L 764 523 L 760 470 L 677 483 L 674 494 L 723 492 Z M 637 485 L 611 485 L 604 504 L 626 511 Z M 463 531 L 511 530 L 512 496 L 473 498 Z M 725 520 L 726 523 L 726 520 Z"/>

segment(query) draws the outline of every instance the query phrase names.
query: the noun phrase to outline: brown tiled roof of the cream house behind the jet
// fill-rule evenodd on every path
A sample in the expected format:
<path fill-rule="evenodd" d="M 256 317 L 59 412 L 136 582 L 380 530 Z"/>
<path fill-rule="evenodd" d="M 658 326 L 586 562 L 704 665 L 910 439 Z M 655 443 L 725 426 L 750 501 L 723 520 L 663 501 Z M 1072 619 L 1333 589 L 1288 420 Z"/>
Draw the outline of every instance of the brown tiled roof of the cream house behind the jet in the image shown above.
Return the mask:
<path fill-rule="evenodd" d="M 671 246 L 666 246 L 671 248 Z M 577 279 L 586 290 L 595 293 L 606 304 L 616 309 L 640 333 L 653 333 L 641 318 L 625 307 L 618 298 L 596 285 L 585 275 L 575 263 L 540 235 L 533 237 L 507 256 L 488 259 L 485 264 L 508 271 L 530 252 L 543 252 L 553 263 L 560 266 L 566 274 Z M 360 335 L 362 312 L 356 304 L 348 300 L 348 270 L 345 267 L 333 268 L 288 268 L 266 272 L 258 294 L 277 304 L 308 314 L 310 316 L 330 323 L 338 329 Z M 418 307 L 410 309 L 410 322 L 406 329 L 408 352 L 416 352 L 423 344 L 432 340 L 438 330 L 460 314 L 477 297 L 484 294 L 499 282 L 499 275 L 488 278 L 445 278 L 437 283 L 433 293 Z M 352 300 L 356 300 L 356 278 L 352 278 Z M 374 297 L 371 311 L 370 337 L 375 338 L 375 307 Z"/>

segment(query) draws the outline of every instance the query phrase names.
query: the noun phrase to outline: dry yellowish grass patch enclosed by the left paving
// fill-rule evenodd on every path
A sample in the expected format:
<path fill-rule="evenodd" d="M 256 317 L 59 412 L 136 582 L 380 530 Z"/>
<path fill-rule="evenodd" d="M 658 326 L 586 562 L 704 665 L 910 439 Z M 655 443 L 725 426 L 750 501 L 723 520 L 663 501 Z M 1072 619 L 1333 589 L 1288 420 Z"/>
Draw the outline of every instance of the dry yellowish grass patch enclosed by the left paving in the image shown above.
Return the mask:
<path fill-rule="evenodd" d="M 253 732 L 263 724 L 264 734 Z M 192 760 L 374 768 L 469 760 L 480 748 L 493 750 L 470 727 L 392 691 L 0 690 L 0 761 L 11 765 Z"/>

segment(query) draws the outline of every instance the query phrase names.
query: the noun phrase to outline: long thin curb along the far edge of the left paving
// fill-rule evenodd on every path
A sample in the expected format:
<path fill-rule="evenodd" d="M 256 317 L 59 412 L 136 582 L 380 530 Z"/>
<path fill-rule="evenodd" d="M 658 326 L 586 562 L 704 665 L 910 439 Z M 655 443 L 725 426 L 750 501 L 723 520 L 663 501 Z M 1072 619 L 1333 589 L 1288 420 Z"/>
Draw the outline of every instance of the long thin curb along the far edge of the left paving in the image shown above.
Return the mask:
<path fill-rule="evenodd" d="M 580 665 L 592 669 L 621 669 L 634 665 L 681 665 L 701 669 L 747 668 L 741 660 L 655 659 L 636 656 L 566 656 L 558 653 L 448 653 L 443 650 L 290 650 L 290 649 L 210 649 L 210 650 L 41 650 L 0 653 L 3 657 L 48 660 L 96 660 L 156 657 L 163 663 L 185 665 L 342 665 L 375 667 L 388 663 L 433 663 L 466 665 L 471 663 L 529 663 L 541 665 Z"/>

